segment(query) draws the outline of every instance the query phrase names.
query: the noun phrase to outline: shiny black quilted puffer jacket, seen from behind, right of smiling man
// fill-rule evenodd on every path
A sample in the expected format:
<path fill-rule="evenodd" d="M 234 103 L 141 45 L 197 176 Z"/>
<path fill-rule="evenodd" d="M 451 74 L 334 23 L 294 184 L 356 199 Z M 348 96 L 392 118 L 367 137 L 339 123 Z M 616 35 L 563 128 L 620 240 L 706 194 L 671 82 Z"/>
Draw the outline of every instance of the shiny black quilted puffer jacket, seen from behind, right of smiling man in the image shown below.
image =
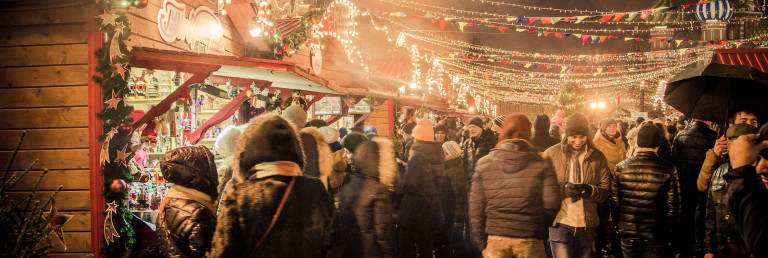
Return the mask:
<path fill-rule="evenodd" d="M 610 204 L 620 238 L 673 241 L 680 214 L 674 164 L 647 151 L 622 161 L 613 172 Z"/>

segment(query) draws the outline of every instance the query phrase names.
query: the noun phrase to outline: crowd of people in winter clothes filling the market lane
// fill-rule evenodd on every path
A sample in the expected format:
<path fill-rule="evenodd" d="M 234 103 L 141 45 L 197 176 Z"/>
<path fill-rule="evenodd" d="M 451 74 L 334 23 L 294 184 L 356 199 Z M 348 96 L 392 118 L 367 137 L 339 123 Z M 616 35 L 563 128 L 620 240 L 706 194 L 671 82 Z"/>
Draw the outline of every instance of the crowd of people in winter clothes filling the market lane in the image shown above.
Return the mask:
<path fill-rule="evenodd" d="M 396 143 L 291 106 L 225 130 L 218 167 L 204 147 L 170 151 L 160 252 L 768 257 L 768 125 L 749 110 L 727 130 L 562 111 L 465 122 L 407 123 Z"/>

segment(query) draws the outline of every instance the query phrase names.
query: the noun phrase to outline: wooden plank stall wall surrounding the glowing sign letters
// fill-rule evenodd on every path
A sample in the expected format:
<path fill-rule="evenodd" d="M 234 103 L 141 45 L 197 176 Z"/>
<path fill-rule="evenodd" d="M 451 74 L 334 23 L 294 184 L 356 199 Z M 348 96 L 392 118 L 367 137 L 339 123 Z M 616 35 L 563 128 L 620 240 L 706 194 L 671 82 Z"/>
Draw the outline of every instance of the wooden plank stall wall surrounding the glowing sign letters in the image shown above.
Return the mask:
<path fill-rule="evenodd" d="M 198 6 L 207 6 L 216 11 L 216 3 L 218 1 L 210 0 L 177 0 L 179 3 L 186 4 L 187 13 L 184 17 L 189 16 L 189 12 Z M 176 40 L 174 42 L 165 42 L 160 37 L 160 32 L 157 27 L 157 12 L 160 10 L 163 0 L 149 0 L 149 3 L 144 8 L 131 8 L 128 10 L 128 20 L 131 21 L 131 41 L 129 45 L 133 47 L 145 47 L 162 50 L 175 50 L 184 52 L 192 51 L 189 44 L 184 41 Z M 245 45 L 239 33 L 232 25 L 232 22 L 226 15 L 220 15 L 219 20 L 222 24 L 224 38 L 222 39 L 222 45 L 224 47 L 225 55 L 227 56 L 243 56 L 245 54 Z M 202 52 L 200 52 L 202 53 Z"/>

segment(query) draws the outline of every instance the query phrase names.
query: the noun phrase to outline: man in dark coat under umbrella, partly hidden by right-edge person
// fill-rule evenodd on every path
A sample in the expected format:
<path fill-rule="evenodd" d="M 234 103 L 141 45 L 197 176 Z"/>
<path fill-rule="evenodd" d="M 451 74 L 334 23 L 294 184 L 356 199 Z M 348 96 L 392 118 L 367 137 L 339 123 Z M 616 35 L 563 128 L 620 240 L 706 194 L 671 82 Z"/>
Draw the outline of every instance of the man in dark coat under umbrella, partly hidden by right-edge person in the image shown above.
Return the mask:
<path fill-rule="evenodd" d="M 728 128 L 725 137 L 728 143 L 747 134 L 756 134 L 757 128 L 750 124 L 736 124 Z M 726 148 L 727 145 L 726 145 Z M 709 154 L 709 152 L 707 153 Z M 727 156 L 726 156 L 727 159 Z M 706 165 L 706 164 L 705 164 Z M 725 206 L 725 194 L 728 187 L 723 175 L 730 164 L 721 164 L 710 174 L 711 181 L 707 190 L 706 235 L 704 235 L 704 257 L 750 257 L 749 250 L 736 228 L 734 217 Z M 701 177 L 701 174 L 699 175 Z"/>

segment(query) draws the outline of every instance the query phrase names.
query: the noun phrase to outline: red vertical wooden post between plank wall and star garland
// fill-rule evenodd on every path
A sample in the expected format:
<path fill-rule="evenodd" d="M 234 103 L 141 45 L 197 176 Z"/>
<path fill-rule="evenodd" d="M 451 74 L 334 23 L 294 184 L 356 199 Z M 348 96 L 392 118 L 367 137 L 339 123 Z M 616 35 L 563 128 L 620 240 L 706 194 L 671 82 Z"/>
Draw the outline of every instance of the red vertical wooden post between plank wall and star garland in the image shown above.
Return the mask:
<path fill-rule="evenodd" d="M 100 257 L 101 237 L 103 234 L 104 217 L 104 196 L 102 182 L 104 177 L 101 175 L 101 164 L 99 164 L 100 142 L 97 138 L 103 134 L 101 120 L 96 114 L 101 111 L 104 99 L 101 96 L 101 85 L 94 82 L 91 78 L 96 73 L 98 60 L 93 54 L 104 43 L 104 36 L 101 33 L 99 24 L 96 23 L 96 7 L 88 8 L 88 168 L 90 173 L 90 195 L 91 195 L 91 253 Z"/>

